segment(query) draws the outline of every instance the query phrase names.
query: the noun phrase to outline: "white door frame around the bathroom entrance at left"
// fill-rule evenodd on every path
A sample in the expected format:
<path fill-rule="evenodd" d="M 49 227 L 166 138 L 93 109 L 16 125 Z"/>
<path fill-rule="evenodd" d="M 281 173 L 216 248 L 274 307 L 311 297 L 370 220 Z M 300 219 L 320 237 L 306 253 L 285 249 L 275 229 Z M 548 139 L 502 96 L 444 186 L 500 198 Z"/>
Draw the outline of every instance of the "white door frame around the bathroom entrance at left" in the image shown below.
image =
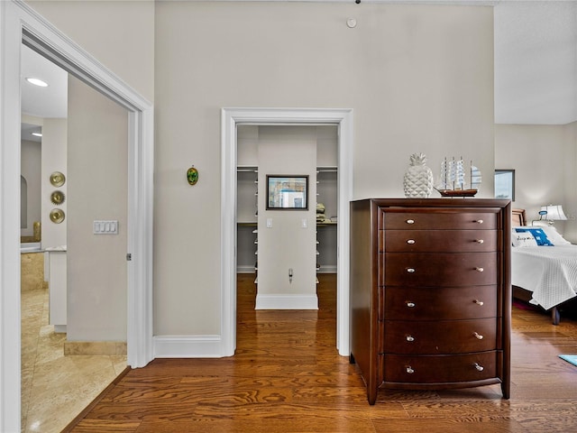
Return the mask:
<path fill-rule="evenodd" d="M 0 431 L 20 431 L 20 59 L 22 44 L 129 112 L 127 363 L 152 351 L 153 109 L 22 0 L 0 2 Z"/>

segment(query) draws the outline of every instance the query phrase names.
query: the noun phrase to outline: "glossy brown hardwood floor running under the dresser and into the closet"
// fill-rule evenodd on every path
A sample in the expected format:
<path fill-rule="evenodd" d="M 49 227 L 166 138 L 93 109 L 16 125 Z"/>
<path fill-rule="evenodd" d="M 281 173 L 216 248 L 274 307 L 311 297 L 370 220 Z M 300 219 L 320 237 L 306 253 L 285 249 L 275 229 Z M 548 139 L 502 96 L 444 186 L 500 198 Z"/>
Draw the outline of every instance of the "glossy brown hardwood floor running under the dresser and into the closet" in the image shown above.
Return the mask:
<path fill-rule="evenodd" d="M 577 432 L 577 320 L 513 309 L 511 399 L 499 385 L 380 390 L 370 406 L 355 366 L 335 349 L 335 276 L 318 311 L 255 311 L 253 275 L 238 280 L 236 355 L 157 359 L 127 373 L 79 432 Z"/>

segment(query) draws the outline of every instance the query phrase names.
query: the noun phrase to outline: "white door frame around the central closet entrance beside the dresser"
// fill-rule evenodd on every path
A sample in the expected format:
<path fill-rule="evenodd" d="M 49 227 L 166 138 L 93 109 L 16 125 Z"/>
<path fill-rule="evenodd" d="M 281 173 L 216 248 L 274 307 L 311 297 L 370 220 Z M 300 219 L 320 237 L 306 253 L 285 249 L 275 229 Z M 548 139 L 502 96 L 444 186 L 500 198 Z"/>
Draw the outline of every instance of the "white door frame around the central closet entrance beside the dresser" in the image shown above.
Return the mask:
<path fill-rule="evenodd" d="M 221 343 L 236 348 L 236 126 L 238 124 L 338 125 L 336 345 L 349 355 L 349 201 L 353 193 L 353 110 L 323 108 L 223 108 L 221 111 Z"/>

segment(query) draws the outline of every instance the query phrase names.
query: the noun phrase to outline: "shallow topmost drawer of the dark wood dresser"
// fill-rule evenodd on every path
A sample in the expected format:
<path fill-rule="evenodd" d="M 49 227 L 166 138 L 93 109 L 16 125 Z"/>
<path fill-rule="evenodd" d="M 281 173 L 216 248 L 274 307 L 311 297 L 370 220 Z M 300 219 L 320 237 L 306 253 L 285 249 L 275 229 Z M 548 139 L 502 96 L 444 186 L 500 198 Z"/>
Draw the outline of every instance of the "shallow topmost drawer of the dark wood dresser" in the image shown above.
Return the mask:
<path fill-rule="evenodd" d="M 420 209 L 420 211 L 395 211 L 391 208 L 382 209 L 384 228 L 387 230 L 495 230 L 497 213 L 483 209 L 471 212 L 463 209 L 446 208 L 443 210 Z"/>

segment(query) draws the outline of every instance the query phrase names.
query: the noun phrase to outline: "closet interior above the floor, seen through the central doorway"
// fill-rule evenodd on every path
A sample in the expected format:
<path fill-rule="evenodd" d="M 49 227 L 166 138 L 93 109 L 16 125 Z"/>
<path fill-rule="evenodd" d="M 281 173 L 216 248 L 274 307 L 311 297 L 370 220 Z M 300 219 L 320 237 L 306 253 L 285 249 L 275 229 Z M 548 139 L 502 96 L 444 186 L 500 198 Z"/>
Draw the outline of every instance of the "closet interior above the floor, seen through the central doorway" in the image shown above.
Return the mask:
<path fill-rule="evenodd" d="M 236 270 L 253 274 L 255 309 L 318 309 L 319 277 L 337 272 L 337 133 L 237 126 Z"/>

